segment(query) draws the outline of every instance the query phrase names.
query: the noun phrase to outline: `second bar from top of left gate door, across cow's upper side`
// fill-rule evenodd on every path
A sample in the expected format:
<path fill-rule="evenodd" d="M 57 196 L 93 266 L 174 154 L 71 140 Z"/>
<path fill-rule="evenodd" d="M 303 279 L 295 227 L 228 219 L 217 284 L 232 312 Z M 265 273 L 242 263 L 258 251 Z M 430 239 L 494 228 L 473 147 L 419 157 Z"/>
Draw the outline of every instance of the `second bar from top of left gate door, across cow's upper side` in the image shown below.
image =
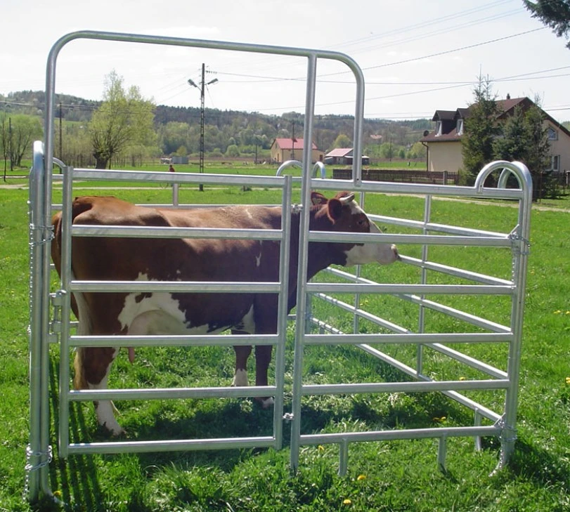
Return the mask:
<path fill-rule="evenodd" d="M 204 238 L 280 240 L 281 230 L 247 230 L 241 228 L 172 228 L 124 225 L 72 225 L 74 237 L 122 237 L 122 238 Z"/>

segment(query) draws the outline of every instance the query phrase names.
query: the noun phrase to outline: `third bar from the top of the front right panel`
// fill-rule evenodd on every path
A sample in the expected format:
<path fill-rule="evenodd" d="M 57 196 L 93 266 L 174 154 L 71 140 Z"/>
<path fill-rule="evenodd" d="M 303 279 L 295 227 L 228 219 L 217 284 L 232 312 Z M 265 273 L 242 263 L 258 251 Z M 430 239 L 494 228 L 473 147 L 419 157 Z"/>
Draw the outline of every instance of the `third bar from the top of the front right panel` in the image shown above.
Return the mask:
<path fill-rule="evenodd" d="M 488 284 L 352 284 L 309 283 L 306 291 L 329 294 L 455 294 L 455 295 L 511 295 L 512 285 Z"/>

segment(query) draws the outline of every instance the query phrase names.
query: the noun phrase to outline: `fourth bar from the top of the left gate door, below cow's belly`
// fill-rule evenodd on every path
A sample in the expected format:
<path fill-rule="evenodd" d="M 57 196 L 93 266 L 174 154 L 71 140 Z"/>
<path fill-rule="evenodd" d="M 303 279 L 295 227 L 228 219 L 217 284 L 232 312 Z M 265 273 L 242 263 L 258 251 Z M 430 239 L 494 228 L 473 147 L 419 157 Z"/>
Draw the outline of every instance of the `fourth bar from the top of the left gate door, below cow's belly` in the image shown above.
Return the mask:
<path fill-rule="evenodd" d="M 74 347 L 250 346 L 277 345 L 278 334 L 196 334 L 172 336 L 70 336 Z"/>

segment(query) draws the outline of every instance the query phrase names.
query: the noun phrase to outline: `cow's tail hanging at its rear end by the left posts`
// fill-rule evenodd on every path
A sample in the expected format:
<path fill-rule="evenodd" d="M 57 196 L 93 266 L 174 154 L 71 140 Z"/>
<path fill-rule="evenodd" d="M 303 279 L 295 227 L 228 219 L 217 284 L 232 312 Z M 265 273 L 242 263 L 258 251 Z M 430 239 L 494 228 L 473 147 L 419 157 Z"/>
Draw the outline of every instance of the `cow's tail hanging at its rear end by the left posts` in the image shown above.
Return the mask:
<path fill-rule="evenodd" d="M 85 208 L 77 208 L 77 202 L 73 204 L 72 218 L 75 219 Z M 62 249 L 62 214 L 60 211 L 56 213 L 52 219 L 51 224 L 53 226 L 53 239 L 51 242 L 51 259 L 56 267 L 58 275 L 61 275 L 61 249 Z M 73 272 L 73 263 L 71 268 L 71 279 L 75 280 L 75 274 Z M 77 320 L 79 321 L 79 327 L 77 329 L 78 334 L 89 335 L 92 330 L 91 317 L 89 315 L 89 308 L 86 305 L 84 295 L 75 291 L 71 296 L 71 308 Z M 87 381 L 84 374 L 84 348 L 79 347 L 75 350 L 75 360 L 73 366 L 75 368 L 75 375 L 73 377 L 73 386 L 75 389 L 86 389 Z"/>

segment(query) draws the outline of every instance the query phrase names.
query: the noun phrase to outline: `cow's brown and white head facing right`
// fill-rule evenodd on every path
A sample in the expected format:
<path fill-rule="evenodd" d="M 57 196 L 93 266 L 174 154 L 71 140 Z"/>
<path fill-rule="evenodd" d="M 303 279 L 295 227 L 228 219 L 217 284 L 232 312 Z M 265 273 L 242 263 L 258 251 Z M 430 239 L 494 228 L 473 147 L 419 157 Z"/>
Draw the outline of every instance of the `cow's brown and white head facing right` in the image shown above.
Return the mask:
<path fill-rule="evenodd" d="M 339 192 L 332 199 L 327 199 L 319 192 L 311 193 L 313 205 L 320 205 L 316 218 L 327 216 L 334 231 L 347 231 L 354 233 L 380 233 L 382 230 L 370 221 L 363 209 L 354 201 L 351 192 Z M 366 243 L 366 244 L 339 244 L 345 247 L 346 262 L 342 265 L 364 265 L 377 262 L 388 265 L 399 260 L 398 249 L 394 244 Z"/>

